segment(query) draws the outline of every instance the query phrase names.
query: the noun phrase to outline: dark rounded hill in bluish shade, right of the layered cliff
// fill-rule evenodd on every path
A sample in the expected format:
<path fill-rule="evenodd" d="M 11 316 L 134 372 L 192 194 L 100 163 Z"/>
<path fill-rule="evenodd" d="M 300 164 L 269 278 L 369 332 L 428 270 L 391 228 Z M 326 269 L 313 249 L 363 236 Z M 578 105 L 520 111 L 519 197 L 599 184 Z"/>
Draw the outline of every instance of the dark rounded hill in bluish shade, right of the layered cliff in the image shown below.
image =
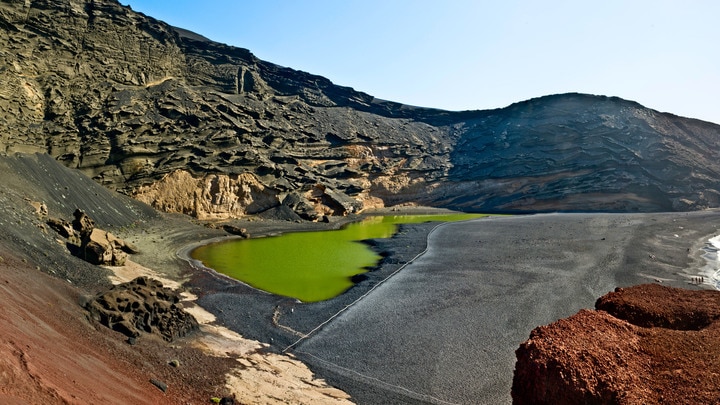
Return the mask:
<path fill-rule="evenodd" d="M 465 123 L 445 204 L 521 210 L 683 211 L 720 203 L 719 127 L 619 98 L 565 94 Z"/>

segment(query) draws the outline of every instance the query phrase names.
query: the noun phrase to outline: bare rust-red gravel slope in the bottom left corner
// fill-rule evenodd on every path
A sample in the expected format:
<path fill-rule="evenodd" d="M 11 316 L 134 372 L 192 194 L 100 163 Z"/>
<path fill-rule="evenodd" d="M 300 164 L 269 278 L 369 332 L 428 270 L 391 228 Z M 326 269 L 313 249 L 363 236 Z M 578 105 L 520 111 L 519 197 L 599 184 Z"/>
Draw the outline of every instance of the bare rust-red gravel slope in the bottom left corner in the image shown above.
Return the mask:
<path fill-rule="evenodd" d="M 80 294 L 0 242 L 0 404 L 185 405 L 229 393 L 224 374 L 236 360 L 160 339 L 129 345 L 88 321 Z"/>

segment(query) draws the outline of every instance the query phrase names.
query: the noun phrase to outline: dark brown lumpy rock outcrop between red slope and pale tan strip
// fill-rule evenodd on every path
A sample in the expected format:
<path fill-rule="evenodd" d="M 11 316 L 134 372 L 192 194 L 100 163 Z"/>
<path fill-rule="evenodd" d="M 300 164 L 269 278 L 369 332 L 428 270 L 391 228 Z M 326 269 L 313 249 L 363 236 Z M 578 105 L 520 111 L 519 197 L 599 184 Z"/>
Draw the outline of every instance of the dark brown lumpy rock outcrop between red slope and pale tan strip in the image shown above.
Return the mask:
<path fill-rule="evenodd" d="M 148 277 L 113 286 L 85 308 L 92 319 L 129 338 L 147 333 L 172 341 L 199 328 L 183 310 L 178 294 Z"/>

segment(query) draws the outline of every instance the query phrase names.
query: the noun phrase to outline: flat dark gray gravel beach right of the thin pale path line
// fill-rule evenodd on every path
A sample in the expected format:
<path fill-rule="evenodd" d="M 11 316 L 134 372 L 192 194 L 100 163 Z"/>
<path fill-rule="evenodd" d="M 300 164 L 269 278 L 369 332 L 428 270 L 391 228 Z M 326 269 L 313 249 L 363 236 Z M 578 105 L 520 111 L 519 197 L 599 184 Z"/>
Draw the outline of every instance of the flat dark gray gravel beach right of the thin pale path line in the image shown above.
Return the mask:
<path fill-rule="evenodd" d="M 688 283 L 717 212 L 545 214 L 445 224 L 428 252 L 294 347 L 359 403 L 510 403 L 536 326 L 617 286 Z"/>

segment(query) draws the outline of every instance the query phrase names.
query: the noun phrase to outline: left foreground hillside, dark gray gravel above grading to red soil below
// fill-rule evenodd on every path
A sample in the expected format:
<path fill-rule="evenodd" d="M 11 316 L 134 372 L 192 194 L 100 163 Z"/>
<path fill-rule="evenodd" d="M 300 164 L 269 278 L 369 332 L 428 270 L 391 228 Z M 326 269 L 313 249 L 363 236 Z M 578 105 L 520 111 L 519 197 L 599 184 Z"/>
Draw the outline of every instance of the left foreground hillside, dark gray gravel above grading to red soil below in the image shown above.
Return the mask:
<path fill-rule="evenodd" d="M 80 304 L 109 287 L 112 273 L 71 255 L 33 204 L 66 219 L 82 207 L 113 231 L 160 220 L 157 212 L 47 155 L 0 157 L 0 173 L 0 402 L 185 404 L 227 392 L 224 374 L 234 366 L 228 359 L 151 338 L 131 346 L 91 322 Z M 167 358 L 206 372 L 175 372 Z"/>

